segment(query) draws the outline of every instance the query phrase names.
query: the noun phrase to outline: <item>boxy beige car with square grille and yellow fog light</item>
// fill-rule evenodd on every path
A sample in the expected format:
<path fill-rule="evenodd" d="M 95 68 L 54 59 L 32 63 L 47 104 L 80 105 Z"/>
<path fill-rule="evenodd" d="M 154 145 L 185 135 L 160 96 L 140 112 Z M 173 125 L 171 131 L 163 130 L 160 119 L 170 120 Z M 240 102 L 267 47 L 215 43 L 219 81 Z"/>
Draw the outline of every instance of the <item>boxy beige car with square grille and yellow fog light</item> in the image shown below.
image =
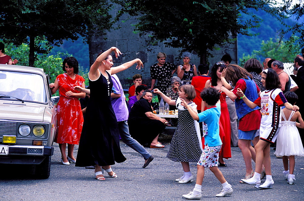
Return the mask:
<path fill-rule="evenodd" d="M 0 64 L 0 164 L 32 164 L 50 176 L 56 103 L 43 69 Z"/>

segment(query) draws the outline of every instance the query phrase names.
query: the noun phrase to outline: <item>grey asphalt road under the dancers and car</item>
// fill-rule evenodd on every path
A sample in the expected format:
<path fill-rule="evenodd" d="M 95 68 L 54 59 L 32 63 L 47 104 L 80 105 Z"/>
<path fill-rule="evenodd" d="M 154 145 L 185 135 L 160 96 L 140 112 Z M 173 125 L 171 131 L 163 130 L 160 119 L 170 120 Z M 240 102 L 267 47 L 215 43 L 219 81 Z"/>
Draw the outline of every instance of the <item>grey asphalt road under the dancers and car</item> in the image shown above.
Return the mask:
<path fill-rule="evenodd" d="M 61 165 L 58 144 L 54 144 L 51 175 L 48 179 L 35 179 L 22 165 L 1 165 L 0 201 L 4 200 L 185 200 L 183 194 L 190 192 L 195 182 L 179 184 L 174 180 L 182 175 L 180 163 L 166 158 L 165 148 L 148 151 L 155 159 L 147 168 L 144 160 L 124 143 L 121 149 L 127 160 L 112 166 L 118 178 L 107 177 L 106 181 L 94 179 L 94 170 Z M 75 146 L 75 155 L 78 146 Z M 231 147 L 232 158 L 225 160 L 227 167 L 220 167 L 226 180 L 232 185 L 233 194 L 218 198 L 221 185 L 209 169 L 205 170 L 201 200 L 303 200 L 304 157 L 296 157 L 294 185 L 289 185 L 282 175 L 282 159 L 275 158 L 271 148 L 272 189 L 256 189 L 254 185 L 240 184 L 245 175 L 245 165 L 238 147 Z M 196 164 L 191 163 L 191 172 L 196 178 Z M 265 177 L 266 178 L 266 177 Z M 262 180 L 264 182 L 265 178 Z"/>

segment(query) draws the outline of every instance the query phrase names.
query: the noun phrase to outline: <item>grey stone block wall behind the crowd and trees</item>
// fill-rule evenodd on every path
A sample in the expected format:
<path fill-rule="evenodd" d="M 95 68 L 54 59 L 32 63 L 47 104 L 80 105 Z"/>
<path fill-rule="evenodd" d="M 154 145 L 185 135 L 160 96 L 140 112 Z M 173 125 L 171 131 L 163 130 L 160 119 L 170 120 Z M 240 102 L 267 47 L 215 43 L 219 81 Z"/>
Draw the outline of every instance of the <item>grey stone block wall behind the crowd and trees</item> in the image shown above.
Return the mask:
<path fill-rule="evenodd" d="M 123 16 L 121 19 L 124 18 L 126 19 L 127 16 Z M 138 33 L 133 32 L 134 24 L 136 24 L 135 18 L 128 19 L 125 22 L 119 22 L 119 25 L 122 27 L 121 29 L 107 32 L 106 36 L 104 37 L 93 36 L 89 43 L 90 65 L 92 65 L 92 63 L 95 61 L 95 58 L 100 51 L 108 50 L 112 46 L 118 47 L 119 50 L 123 53 L 123 55 L 121 55 L 118 59 L 113 57 L 114 66 L 118 66 L 135 58 L 140 58 L 143 61 L 143 69 L 136 70 L 136 65 L 134 65 L 128 70 L 117 74 L 124 89 L 128 89 L 130 85 L 133 84 L 132 76 L 137 73 L 143 76 L 143 84 L 146 84 L 150 87 L 150 66 L 157 63 L 156 55 L 158 52 L 166 53 L 166 61 L 168 62 L 176 65 L 182 63 L 182 59 L 179 57 L 179 49 L 165 47 L 163 43 L 159 43 L 155 46 L 147 46 L 147 43 L 145 41 L 146 37 L 140 37 Z M 107 39 L 104 40 L 104 38 Z M 237 42 L 220 47 L 220 50 L 214 50 L 212 52 L 214 57 L 209 58 L 210 64 L 214 64 L 217 61 L 220 61 L 223 54 L 225 53 L 231 55 L 232 63 L 237 63 Z M 197 54 L 192 54 L 190 63 L 193 63 L 196 66 L 200 64 L 200 58 L 197 56 Z M 211 66 L 212 65 L 210 65 L 210 67 Z"/>

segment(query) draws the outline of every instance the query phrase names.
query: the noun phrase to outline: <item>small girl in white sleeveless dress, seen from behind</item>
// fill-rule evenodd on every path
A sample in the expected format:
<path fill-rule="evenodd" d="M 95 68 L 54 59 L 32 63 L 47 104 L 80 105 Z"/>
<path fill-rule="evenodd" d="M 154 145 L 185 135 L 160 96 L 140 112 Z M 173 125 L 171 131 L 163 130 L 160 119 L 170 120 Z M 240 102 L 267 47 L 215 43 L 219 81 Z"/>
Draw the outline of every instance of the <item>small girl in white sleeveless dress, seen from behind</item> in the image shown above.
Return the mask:
<path fill-rule="evenodd" d="M 292 105 L 295 105 L 295 102 L 298 99 L 298 96 L 294 92 L 290 91 L 286 92 L 284 96 Z M 296 120 L 299 120 L 300 123 L 296 123 Z M 293 184 L 293 180 L 295 180 L 295 175 L 293 174 L 295 169 L 295 156 L 304 156 L 303 144 L 296 126 L 299 128 L 304 128 L 304 121 L 301 114 L 286 108 L 282 109 L 281 129 L 278 133 L 275 154 L 277 156 L 283 156 L 283 174 L 285 175 L 285 178 L 288 180 L 287 183 L 289 184 Z"/>

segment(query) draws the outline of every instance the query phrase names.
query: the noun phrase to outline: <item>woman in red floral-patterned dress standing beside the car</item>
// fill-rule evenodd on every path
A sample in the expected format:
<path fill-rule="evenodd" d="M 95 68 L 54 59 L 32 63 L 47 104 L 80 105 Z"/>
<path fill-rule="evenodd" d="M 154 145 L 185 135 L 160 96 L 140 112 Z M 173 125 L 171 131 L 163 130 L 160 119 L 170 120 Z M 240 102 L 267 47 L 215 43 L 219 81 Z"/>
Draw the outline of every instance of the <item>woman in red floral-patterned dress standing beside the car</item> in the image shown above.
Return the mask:
<path fill-rule="evenodd" d="M 78 74 L 78 61 L 75 57 L 67 57 L 62 62 L 62 70 L 66 73 L 57 76 L 50 84 L 51 93 L 59 89 L 59 102 L 57 104 L 57 131 L 55 142 L 59 144 L 61 162 L 63 165 L 75 163 L 73 156 L 75 144 L 79 144 L 83 125 L 83 116 L 79 98 L 85 98 L 84 92 L 74 90 L 75 86 L 85 88 L 85 79 Z M 67 145 L 68 144 L 68 145 Z M 67 155 L 65 153 L 67 146 Z"/>

